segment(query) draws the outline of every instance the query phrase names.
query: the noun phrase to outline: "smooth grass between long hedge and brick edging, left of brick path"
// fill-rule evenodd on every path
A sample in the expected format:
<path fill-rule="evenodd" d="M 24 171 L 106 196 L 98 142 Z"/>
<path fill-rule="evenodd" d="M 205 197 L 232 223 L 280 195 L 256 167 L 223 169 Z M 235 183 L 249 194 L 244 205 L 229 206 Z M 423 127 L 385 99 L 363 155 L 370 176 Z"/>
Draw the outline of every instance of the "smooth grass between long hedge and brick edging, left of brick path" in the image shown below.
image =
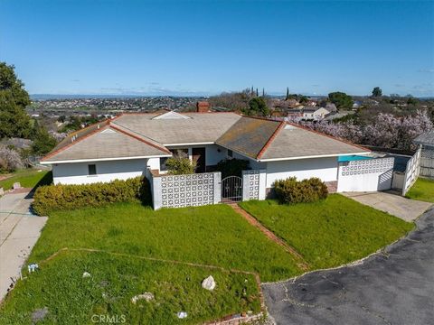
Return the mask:
<path fill-rule="evenodd" d="M 291 255 L 226 205 L 154 211 L 119 203 L 53 212 L 29 261 L 62 247 L 218 265 L 257 272 L 262 281 L 300 273 Z"/>

